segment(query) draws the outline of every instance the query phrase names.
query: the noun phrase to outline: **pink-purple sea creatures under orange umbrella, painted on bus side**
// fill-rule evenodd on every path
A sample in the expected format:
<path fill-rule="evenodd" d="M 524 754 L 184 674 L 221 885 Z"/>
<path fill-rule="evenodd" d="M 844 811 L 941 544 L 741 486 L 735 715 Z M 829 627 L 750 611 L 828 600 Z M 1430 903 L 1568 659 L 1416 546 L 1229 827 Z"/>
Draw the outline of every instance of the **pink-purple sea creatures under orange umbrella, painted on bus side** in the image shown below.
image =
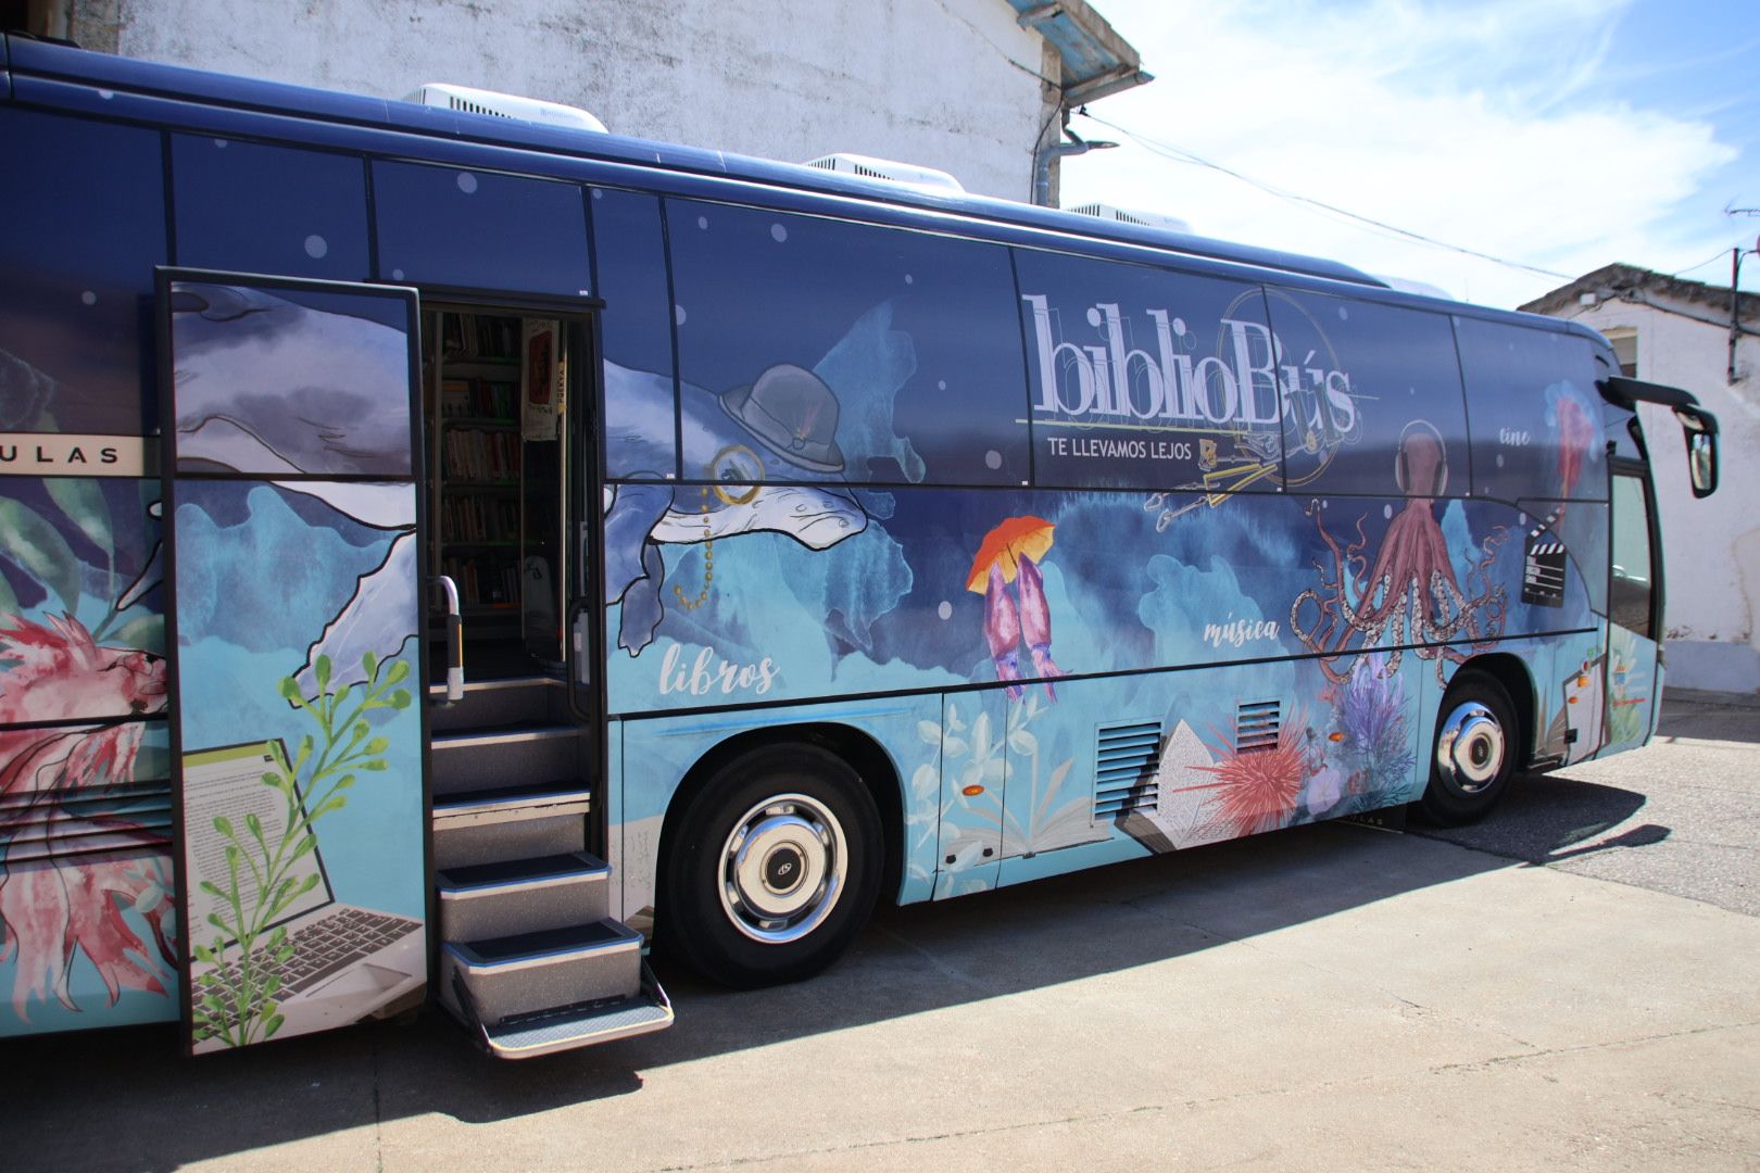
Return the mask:
<path fill-rule="evenodd" d="M 972 559 L 966 589 L 984 596 L 984 638 L 996 661 L 996 679 L 1010 681 L 1008 696 L 1021 698 L 1021 642 L 1026 640 L 1033 675 L 1045 681 L 1045 696 L 1058 698 L 1052 677 L 1065 675 L 1051 659 L 1051 607 L 1038 563 L 1051 549 L 1052 522 L 1044 517 L 1008 517 L 984 535 Z M 1014 594 L 1008 584 L 1014 584 Z M 1016 605 L 1019 598 L 1019 605 Z"/>

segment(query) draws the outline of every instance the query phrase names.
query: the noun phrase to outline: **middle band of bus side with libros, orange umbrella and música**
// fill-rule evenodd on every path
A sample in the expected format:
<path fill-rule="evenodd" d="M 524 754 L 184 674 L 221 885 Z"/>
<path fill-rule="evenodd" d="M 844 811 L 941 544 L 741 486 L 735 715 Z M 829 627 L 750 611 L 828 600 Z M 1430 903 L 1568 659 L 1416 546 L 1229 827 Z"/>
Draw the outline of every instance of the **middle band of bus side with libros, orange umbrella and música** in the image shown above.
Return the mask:
<path fill-rule="evenodd" d="M 667 517 L 678 512 L 671 498 L 713 492 L 642 489 L 649 514 Z M 618 492 L 621 501 L 634 487 Z M 1605 579 L 1605 506 L 1596 503 L 1570 506 L 1570 526 L 1582 519 L 1575 533 L 1478 499 L 1024 489 L 790 498 L 780 487 L 776 496 L 776 508 L 824 508 L 852 533 L 815 549 L 755 529 L 711 542 L 702 524 L 692 535 L 671 521 L 656 526 L 678 538 L 665 543 L 644 543 L 639 528 L 607 529 L 607 545 L 628 540 L 639 550 L 607 561 L 641 559 L 649 575 L 639 626 L 651 635 L 607 665 L 614 712 L 1290 656 L 1318 658 L 1329 684 L 1341 684 L 1371 654 L 1403 647 L 1434 667 L 1500 640 L 1600 623 L 1591 586 Z M 869 508 L 880 496 L 884 514 Z M 1524 584 L 1529 547 L 1556 563 L 1544 594 Z M 612 645 L 628 630 L 634 593 L 607 608 Z"/>

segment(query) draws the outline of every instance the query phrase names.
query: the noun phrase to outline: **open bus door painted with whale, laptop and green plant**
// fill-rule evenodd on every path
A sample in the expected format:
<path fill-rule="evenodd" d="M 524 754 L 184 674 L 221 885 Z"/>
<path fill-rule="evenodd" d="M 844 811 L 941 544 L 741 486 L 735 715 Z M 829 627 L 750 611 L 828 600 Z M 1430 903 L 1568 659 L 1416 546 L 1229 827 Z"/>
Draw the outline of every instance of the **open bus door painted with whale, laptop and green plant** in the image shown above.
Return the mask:
<path fill-rule="evenodd" d="M 428 983 L 414 290 L 160 269 L 185 1046 Z"/>

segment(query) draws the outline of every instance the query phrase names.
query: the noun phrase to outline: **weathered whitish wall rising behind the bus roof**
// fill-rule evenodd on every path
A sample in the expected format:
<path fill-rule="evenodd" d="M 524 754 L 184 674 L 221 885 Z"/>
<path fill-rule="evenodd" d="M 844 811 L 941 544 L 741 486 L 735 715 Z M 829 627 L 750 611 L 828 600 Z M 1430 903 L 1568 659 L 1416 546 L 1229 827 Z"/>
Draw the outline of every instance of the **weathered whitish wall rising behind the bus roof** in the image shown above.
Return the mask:
<path fill-rule="evenodd" d="M 1003 0 L 39 0 L 88 49 L 403 97 L 581 106 L 616 134 L 806 162 L 857 151 L 1028 200 L 1056 55 Z"/>

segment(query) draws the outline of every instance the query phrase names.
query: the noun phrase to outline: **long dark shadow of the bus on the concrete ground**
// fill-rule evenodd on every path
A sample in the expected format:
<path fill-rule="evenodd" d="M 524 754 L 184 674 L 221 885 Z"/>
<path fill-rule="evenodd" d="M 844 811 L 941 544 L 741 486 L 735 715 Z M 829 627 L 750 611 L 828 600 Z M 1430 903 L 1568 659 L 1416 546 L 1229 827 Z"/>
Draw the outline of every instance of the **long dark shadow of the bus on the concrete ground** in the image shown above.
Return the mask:
<path fill-rule="evenodd" d="M 172 1027 L 21 1039 L 0 1071 L 9 1168 L 176 1168 L 315 1136 L 347 1164 L 398 1120 L 482 1124 L 625 1096 L 646 1069 L 1170 962 L 1501 867 L 1329 823 L 889 907 L 799 985 L 730 992 L 662 958 L 671 1031 L 524 1062 L 480 1055 L 435 1009 L 202 1059 L 178 1057 Z"/>

